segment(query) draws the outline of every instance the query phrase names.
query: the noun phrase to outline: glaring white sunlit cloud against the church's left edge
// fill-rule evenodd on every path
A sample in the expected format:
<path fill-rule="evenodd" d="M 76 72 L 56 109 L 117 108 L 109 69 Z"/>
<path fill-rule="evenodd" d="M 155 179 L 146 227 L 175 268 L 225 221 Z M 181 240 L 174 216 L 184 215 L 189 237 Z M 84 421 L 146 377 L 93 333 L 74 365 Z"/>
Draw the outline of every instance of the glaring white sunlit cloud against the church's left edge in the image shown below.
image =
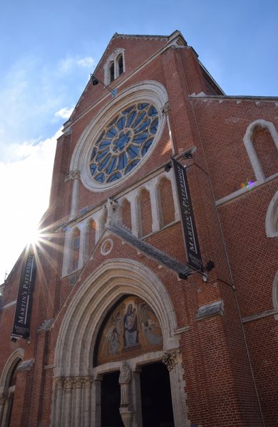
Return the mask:
<path fill-rule="evenodd" d="M 10 272 L 48 207 L 56 139 L 26 142 L 14 162 L 0 162 L 0 283 Z M 14 149 L 19 147 L 14 145 Z M 19 159 L 18 159 L 19 158 Z M 6 184 L 5 184 L 6 183 Z"/>

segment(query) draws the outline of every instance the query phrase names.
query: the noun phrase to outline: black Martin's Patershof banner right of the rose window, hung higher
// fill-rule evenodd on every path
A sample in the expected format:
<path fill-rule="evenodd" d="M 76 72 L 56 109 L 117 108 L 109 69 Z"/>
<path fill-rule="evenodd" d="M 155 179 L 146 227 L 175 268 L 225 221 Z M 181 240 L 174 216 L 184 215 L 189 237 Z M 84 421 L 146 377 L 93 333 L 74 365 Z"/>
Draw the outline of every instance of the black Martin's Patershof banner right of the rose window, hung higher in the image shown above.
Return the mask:
<path fill-rule="evenodd" d="M 183 237 L 185 239 L 185 249 L 187 253 L 188 265 L 195 270 L 202 270 L 202 258 L 195 219 L 190 199 L 189 186 L 186 176 L 186 169 L 177 160 L 172 159 L 177 185 L 177 196 L 180 204 L 180 216 L 182 222 Z"/>

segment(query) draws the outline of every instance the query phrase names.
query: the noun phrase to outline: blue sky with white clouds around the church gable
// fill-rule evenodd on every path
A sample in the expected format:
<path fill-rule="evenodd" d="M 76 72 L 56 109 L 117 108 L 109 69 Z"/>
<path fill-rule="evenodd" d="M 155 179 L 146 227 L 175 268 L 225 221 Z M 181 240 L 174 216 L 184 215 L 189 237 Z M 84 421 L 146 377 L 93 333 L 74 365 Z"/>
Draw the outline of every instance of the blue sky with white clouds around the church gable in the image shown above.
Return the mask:
<path fill-rule="evenodd" d="M 169 35 L 178 29 L 227 95 L 278 96 L 277 16 L 275 0 L 5 2 L 0 283 L 23 250 L 29 226 L 47 208 L 57 132 L 113 33 Z M 26 203 L 26 188 L 35 205 Z"/>

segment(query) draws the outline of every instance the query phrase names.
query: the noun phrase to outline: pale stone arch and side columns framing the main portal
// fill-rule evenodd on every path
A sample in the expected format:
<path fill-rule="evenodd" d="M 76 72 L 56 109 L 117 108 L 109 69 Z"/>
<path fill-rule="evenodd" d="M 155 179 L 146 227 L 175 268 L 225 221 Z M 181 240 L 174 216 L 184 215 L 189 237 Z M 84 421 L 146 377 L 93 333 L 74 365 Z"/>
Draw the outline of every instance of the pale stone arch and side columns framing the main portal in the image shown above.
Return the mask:
<path fill-rule="evenodd" d="M 151 360 L 161 361 L 164 352 L 177 353 L 177 321 L 163 283 L 152 270 L 135 260 L 106 261 L 88 276 L 76 292 L 61 323 L 54 356 L 56 368 L 51 427 L 66 427 L 71 424 L 71 402 L 78 405 L 74 415 L 75 419 L 78 418 L 78 425 L 101 425 L 98 401 L 101 399 L 102 374 L 99 372 L 101 369 L 106 372 L 119 371 L 121 362 L 112 361 L 94 367 L 94 349 L 98 345 L 98 334 L 108 312 L 120 299 L 129 295 L 152 308 L 163 338 L 163 349 L 142 354 L 139 358 L 147 361 L 150 354 Z M 173 369 L 171 375 L 175 378 L 173 381 L 178 381 L 181 387 L 184 386 L 180 359 L 178 368 Z M 180 418 L 184 418 L 187 410 L 179 396 L 180 394 L 174 396 L 173 405 L 184 406 L 182 411 L 179 411 Z"/>

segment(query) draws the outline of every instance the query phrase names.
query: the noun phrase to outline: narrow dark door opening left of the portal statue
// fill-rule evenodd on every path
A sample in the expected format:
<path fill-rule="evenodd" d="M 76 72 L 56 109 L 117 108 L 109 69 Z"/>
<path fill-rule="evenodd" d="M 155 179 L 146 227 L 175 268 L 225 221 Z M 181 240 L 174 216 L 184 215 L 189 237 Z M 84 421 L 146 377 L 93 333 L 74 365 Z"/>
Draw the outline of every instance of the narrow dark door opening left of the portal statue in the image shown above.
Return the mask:
<path fill-rule="evenodd" d="M 119 372 L 103 375 L 101 381 L 101 427 L 123 427 L 120 417 Z"/>

